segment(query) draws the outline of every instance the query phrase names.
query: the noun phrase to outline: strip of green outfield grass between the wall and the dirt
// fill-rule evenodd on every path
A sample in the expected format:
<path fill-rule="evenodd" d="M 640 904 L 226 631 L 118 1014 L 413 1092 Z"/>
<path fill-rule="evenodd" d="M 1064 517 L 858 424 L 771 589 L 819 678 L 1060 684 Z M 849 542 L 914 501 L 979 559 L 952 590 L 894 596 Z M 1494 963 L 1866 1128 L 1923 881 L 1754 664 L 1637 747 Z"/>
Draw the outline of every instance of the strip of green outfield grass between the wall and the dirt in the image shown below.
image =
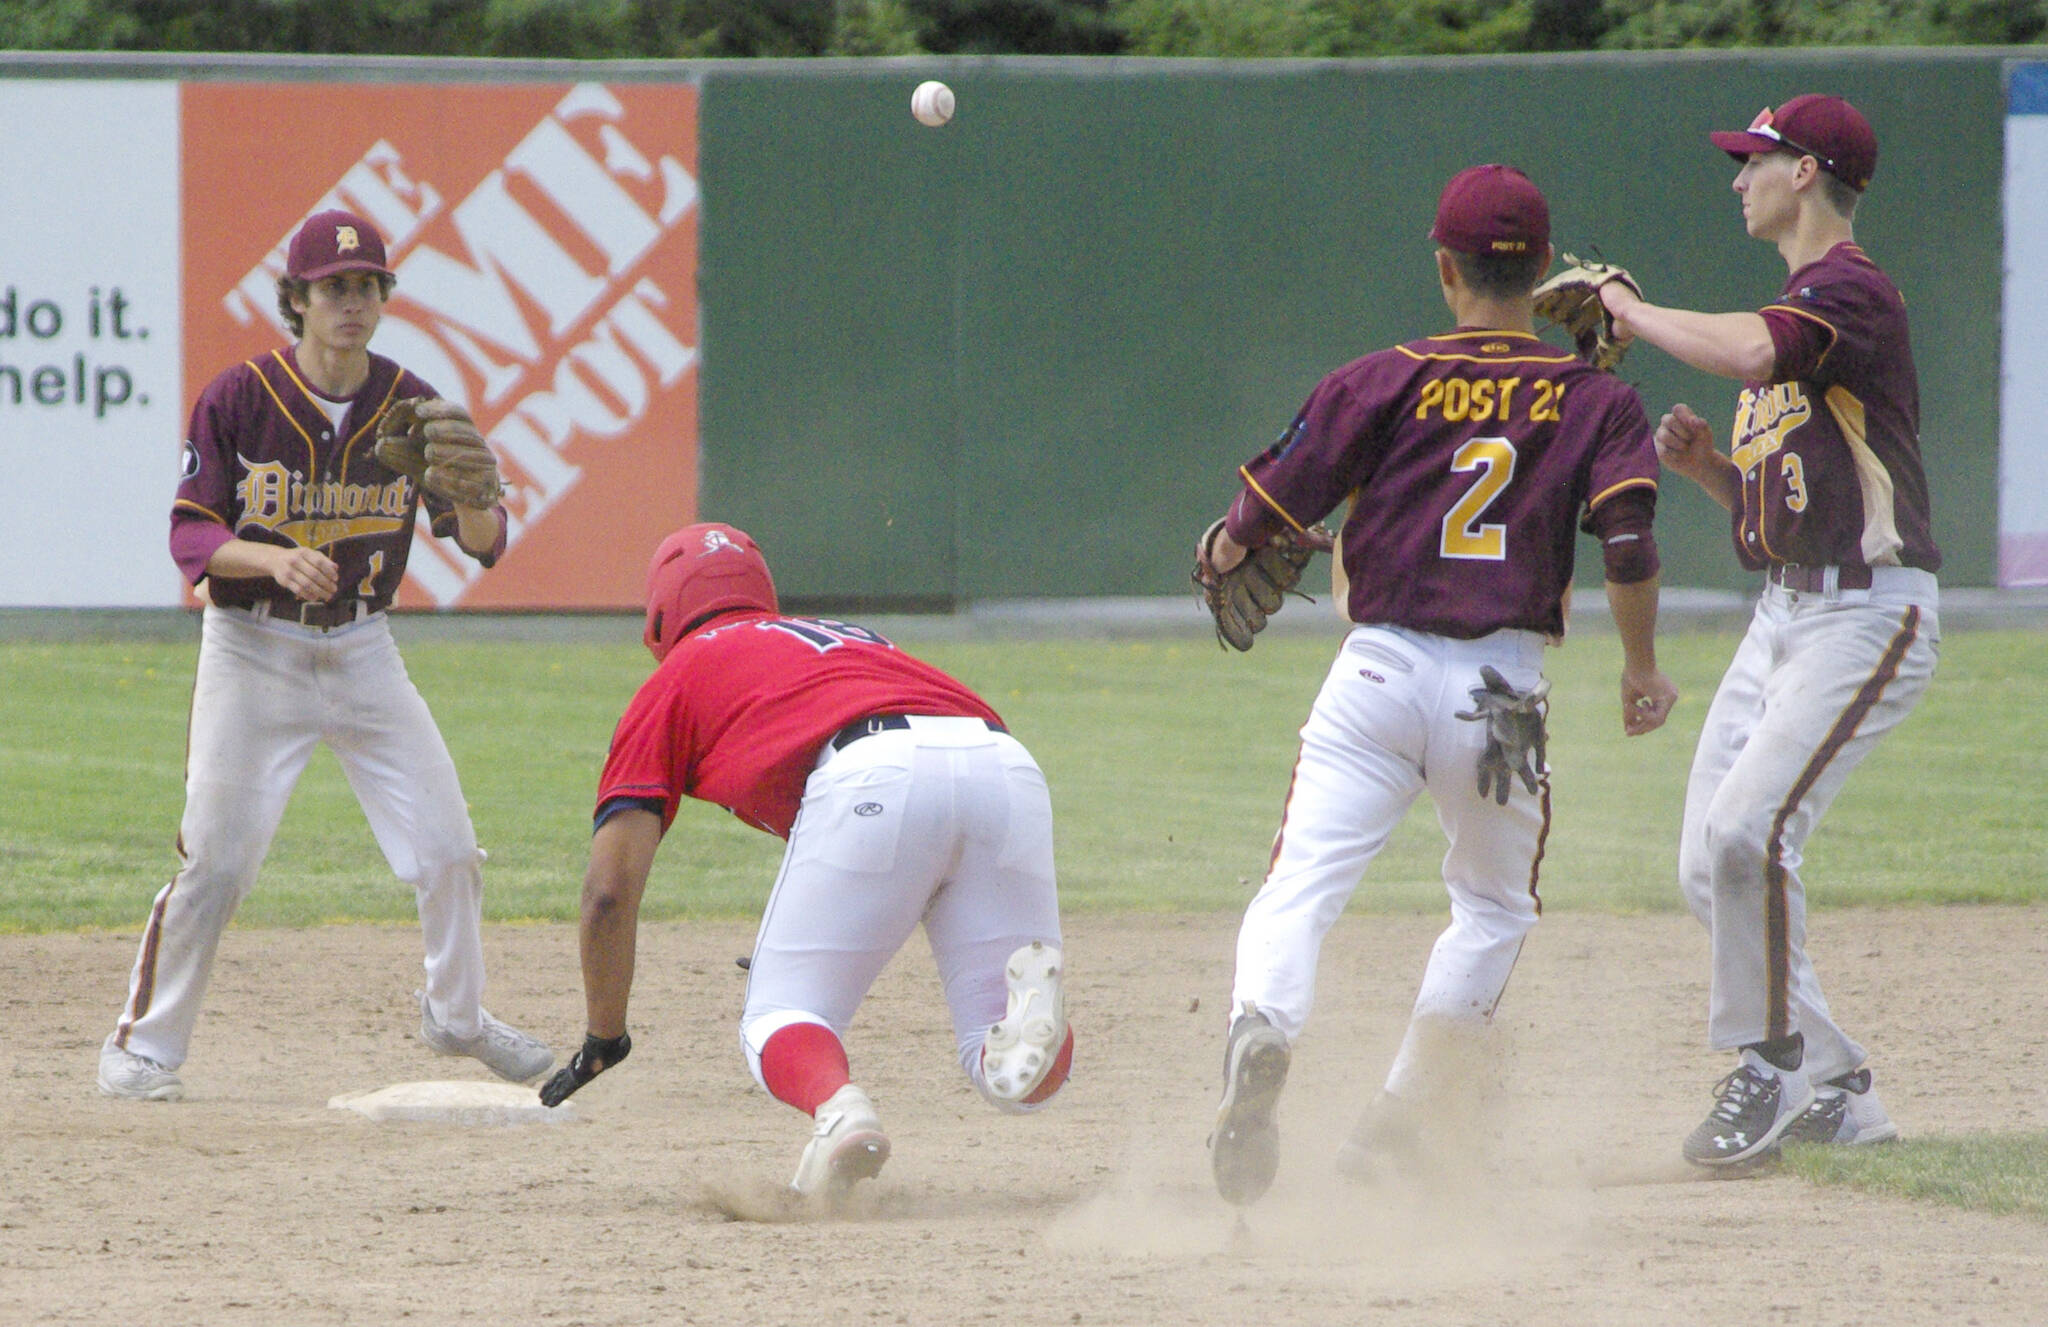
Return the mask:
<path fill-rule="evenodd" d="M 616 645 L 449 635 L 406 641 L 399 625 L 492 854 L 485 909 L 573 917 L 598 768 L 647 655 L 629 629 Z M 1546 907 L 1679 905 L 1686 766 L 1735 639 L 1665 639 L 1683 700 L 1661 733 L 1638 739 L 1620 737 L 1614 637 L 1583 633 L 1552 651 Z M 979 688 L 1044 766 L 1065 907 L 1237 909 L 1251 895 L 1333 639 L 1266 637 L 1249 655 L 1202 639 L 907 643 Z M 1925 704 L 1808 846 L 1817 907 L 2048 893 L 2038 815 L 2048 719 L 2019 704 L 2038 690 L 2044 643 L 2030 631 L 1944 643 Z M 193 641 L 0 641 L 0 930 L 141 926 L 176 866 L 195 655 Z M 778 854 L 778 840 L 686 805 L 655 862 L 649 915 L 752 915 Z M 1354 907 L 1440 909 L 1440 858 L 1421 799 Z M 412 915 L 322 750 L 240 924 Z"/>

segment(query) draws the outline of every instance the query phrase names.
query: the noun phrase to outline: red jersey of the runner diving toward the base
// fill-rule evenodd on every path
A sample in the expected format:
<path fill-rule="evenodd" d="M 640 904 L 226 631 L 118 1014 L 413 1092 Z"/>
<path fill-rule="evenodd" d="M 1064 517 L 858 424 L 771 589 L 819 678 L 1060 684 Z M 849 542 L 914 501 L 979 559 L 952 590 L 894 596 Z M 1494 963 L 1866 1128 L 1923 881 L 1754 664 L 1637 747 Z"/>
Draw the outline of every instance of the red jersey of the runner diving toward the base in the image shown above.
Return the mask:
<path fill-rule="evenodd" d="M 684 637 L 612 733 L 598 817 L 616 801 L 717 803 L 788 838 L 825 741 L 854 719 L 958 715 L 1001 723 L 981 696 L 883 637 L 829 618 L 745 612 Z"/>

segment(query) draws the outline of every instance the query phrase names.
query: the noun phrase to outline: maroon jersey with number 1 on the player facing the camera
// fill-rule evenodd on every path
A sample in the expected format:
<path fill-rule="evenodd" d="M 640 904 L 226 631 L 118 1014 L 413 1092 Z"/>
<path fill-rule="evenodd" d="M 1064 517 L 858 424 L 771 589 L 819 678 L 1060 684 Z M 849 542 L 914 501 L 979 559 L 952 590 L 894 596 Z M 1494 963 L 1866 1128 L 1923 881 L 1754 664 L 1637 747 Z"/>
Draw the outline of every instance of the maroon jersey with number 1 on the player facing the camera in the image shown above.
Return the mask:
<path fill-rule="evenodd" d="M 299 373 L 295 350 L 244 360 L 207 383 L 193 405 L 184 440 L 184 481 L 170 508 L 170 555 L 190 584 L 229 539 L 319 549 L 340 569 L 336 602 L 360 598 L 385 608 L 406 577 L 420 487 L 373 455 L 377 420 L 391 401 L 434 395 L 424 381 L 381 354 L 348 397 L 342 430 Z M 455 532 L 453 504 L 426 496 L 436 534 Z M 504 553 L 504 510 L 498 545 L 479 557 L 485 567 Z M 215 604 L 248 608 L 270 600 L 283 614 L 299 600 L 268 577 L 217 577 Z"/>

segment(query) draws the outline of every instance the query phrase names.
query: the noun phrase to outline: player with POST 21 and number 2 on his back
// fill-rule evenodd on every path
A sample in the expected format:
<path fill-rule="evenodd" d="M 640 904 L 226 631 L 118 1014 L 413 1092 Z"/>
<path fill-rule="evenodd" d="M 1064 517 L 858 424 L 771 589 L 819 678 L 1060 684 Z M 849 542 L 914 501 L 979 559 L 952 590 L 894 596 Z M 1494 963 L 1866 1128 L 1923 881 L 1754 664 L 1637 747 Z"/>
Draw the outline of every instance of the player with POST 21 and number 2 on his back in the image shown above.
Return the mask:
<path fill-rule="evenodd" d="M 1657 453 L 1636 393 L 1532 332 L 1550 211 L 1509 166 L 1475 166 L 1438 203 L 1436 274 L 1456 330 L 1337 369 L 1266 453 L 1202 555 L 1223 571 L 1280 530 L 1350 502 L 1348 614 L 1288 786 L 1272 866 L 1237 936 L 1217 1188 L 1253 1202 L 1278 1165 L 1274 1108 L 1315 995 L 1323 936 L 1415 797 L 1450 840 L 1452 922 L 1430 954 L 1384 1091 L 1339 1153 L 1370 1175 L 1432 1094 L 1434 1055 L 1485 1026 L 1536 924 L 1550 823 L 1542 649 L 1565 631 L 1573 537 L 1599 539 L 1620 627 L 1622 727 L 1663 725 L 1657 670 Z M 1511 698 L 1511 700 L 1509 700 Z M 1534 741 L 1499 764 L 1493 704 Z M 1532 750 L 1530 750 L 1532 747 Z M 1522 778 L 1511 766 L 1522 764 Z"/>

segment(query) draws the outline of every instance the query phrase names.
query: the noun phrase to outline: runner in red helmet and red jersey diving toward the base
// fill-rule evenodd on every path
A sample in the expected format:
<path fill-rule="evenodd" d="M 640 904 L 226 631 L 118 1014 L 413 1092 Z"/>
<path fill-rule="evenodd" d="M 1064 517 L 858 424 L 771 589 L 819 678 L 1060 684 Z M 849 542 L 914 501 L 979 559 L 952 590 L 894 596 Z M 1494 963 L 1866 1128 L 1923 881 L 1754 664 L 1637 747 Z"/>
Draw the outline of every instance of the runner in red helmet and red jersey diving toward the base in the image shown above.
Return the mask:
<path fill-rule="evenodd" d="M 645 641 L 659 668 L 612 735 L 584 876 L 588 1032 L 541 1100 L 631 1051 L 641 893 L 684 797 L 788 840 L 739 1042 L 754 1079 L 813 1116 L 799 1194 L 829 1202 L 889 1159 L 842 1038 L 920 922 L 975 1089 L 1006 1112 L 1059 1091 L 1073 1034 L 1053 809 L 995 711 L 872 631 L 782 614 L 760 549 L 725 524 L 655 551 Z"/>

